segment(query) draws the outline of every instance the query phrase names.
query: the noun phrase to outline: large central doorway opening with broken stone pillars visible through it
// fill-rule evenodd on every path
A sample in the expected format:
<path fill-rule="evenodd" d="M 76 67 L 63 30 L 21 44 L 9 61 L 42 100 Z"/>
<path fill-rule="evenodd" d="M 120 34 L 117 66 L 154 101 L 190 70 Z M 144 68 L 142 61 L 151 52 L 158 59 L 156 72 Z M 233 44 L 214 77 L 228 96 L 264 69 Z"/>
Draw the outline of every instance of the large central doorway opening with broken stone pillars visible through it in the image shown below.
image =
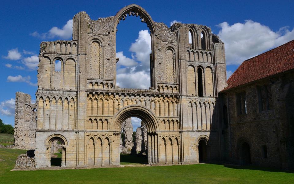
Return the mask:
<path fill-rule="evenodd" d="M 121 125 L 120 164 L 148 164 L 147 127 L 137 117 Z"/>

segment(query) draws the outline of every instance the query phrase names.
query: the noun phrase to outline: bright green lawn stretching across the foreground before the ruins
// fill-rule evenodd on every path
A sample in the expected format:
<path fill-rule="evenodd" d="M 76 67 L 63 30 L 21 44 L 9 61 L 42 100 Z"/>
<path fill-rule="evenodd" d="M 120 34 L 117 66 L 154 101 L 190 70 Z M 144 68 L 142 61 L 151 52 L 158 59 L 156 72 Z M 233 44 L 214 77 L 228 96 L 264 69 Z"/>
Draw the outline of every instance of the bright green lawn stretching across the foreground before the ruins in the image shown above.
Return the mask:
<path fill-rule="evenodd" d="M 25 151 L 0 149 L 0 183 L 294 183 L 293 173 L 216 164 L 10 171 L 21 153 Z"/>

